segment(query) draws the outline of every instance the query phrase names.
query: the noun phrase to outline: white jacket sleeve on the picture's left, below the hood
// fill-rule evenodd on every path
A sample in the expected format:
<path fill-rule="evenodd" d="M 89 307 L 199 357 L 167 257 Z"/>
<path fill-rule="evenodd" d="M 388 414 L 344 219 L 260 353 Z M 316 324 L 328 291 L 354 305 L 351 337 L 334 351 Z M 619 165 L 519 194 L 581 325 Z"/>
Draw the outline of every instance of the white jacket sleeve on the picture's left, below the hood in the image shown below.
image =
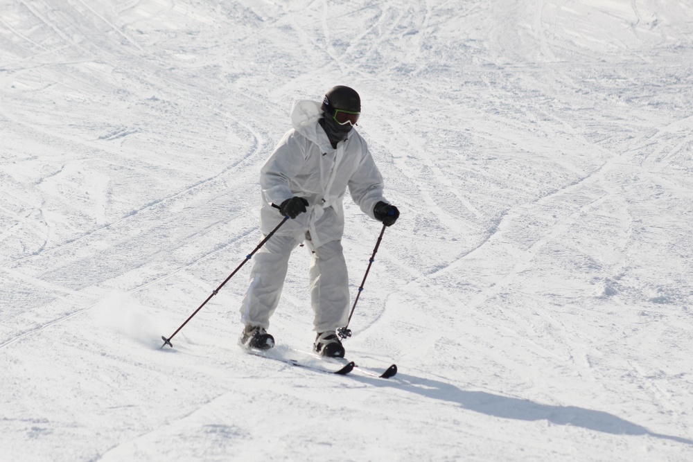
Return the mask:
<path fill-rule="evenodd" d="M 306 162 L 304 141 L 304 136 L 289 130 L 261 168 L 260 187 L 267 202 L 279 205 L 296 195 L 292 181 Z"/>

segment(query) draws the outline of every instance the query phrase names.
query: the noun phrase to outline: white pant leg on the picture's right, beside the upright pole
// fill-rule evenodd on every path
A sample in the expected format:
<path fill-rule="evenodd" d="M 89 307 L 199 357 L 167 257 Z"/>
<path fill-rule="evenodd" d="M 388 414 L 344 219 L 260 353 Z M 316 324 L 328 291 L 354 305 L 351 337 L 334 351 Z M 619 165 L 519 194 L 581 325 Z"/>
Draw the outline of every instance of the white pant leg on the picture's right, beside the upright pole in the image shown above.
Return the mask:
<path fill-rule="evenodd" d="M 342 242 L 333 240 L 311 250 L 310 303 L 315 331 L 337 330 L 349 319 L 349 274 Z"/>

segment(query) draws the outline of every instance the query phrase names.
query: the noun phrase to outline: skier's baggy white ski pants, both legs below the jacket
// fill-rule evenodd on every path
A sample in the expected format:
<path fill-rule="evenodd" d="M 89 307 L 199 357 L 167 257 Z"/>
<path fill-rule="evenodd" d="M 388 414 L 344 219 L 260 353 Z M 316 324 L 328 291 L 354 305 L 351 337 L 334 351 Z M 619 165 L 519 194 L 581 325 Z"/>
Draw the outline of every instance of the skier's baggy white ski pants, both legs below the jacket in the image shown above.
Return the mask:
<path fill-rule="evenodd" d="M 270 317 L 279 305 L 291 252 L 299 243 L 290 236 L 272 236 L 254 256 L 250 286 L 240 307 L 245 325 L 270 327 Z M 315 313 L 316 332 L 337 330 L 349 320 L 349 275 L 342 242 L 333 240 L 310 249 L 310 304 Z"/>

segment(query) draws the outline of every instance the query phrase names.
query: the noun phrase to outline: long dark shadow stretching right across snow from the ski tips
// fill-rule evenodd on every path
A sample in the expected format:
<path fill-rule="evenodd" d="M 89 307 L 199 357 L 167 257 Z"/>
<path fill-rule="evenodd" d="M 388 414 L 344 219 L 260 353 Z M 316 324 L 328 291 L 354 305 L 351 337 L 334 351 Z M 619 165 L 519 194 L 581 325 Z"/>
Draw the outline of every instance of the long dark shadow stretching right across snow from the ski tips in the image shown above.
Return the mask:
<path fill-rule="evenodd" d="M 693 440 L 650 432 L 647 428 L 602 411 L 575 406 L 542 405 L 531 400 L 509 398 L 485 391 L 466 391 L 438 380 L 423 379 L 398 373 L 392 382 L 397 389 L 426 398 L 453 402 L 456 405 L 488 416 L 515 420 L 548 420 L 556 425 L 572 425 L 595 432 L 615 435 L 648 435 L 693 445 Z M 378 380 L 382 384 L 383 380 Z"/>

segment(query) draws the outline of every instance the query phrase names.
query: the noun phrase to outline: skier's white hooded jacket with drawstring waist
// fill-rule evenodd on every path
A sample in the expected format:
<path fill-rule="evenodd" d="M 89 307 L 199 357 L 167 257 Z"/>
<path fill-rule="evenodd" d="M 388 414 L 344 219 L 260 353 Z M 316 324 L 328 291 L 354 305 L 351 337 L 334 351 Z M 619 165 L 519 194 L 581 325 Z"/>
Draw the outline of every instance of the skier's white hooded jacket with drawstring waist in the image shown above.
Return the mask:
<path fill-rule="evenodd" d="M 260 227 L 265 235 L 283 219 L 272 204 L 279 206 L 290 197 L 305 197 L 308 211 L 287 220 L 277 234 L 303 242 L 310 231 L 315 247 L 342 238 L 342 200 L 347 186 L 353 202 L 371 218 L 375 218 L 373 208 L 378 201 L 389 204 L 383 197 L 383 177 L 366 141 L 352 129 L 347 140 L 333 148 L 317 122 L 321 117 L 320 103 L 295 101 L 293 129 L 286 132 L 261 169 Z"/>

